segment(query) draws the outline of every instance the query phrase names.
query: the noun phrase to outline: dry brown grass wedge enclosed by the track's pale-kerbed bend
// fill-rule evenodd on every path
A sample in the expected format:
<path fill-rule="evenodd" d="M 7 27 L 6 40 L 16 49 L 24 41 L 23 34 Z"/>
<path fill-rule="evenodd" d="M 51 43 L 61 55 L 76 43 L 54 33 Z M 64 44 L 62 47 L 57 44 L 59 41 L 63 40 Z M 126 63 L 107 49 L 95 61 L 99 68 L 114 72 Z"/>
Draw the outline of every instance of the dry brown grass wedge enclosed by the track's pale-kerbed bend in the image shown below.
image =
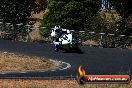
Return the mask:
<path fill-rule="evenodd" d="M 14 53 L 0 53 L 0 72 L 27 71 L 54 67 L 55 64 L 47 58 L 36 56 L 15 55 Z"/>

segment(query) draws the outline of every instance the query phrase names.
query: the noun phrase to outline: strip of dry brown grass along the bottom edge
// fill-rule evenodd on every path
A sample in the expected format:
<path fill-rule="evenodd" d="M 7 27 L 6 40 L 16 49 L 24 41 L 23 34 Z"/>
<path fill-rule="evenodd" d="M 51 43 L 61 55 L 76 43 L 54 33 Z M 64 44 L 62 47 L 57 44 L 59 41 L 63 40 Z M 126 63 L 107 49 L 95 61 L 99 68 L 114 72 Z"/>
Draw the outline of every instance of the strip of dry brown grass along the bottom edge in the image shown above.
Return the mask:
<path fill-rule="evenodd" d="M 1 88 L 131 88 L 130 84 L 85 84 L 76 80 L 0 80 Z"/>

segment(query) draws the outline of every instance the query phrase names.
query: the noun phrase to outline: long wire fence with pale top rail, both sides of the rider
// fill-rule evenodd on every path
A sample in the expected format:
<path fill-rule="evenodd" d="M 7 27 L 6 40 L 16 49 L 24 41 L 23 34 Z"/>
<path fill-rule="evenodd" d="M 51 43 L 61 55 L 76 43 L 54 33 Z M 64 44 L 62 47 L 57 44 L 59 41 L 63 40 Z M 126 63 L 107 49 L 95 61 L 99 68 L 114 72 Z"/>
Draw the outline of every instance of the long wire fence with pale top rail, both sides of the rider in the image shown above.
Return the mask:
<path fill-rule="evenodd" d="M 29 33 L 34 29 L 43 29 L 46 27 L 33 26 L 28 24 L 11 24 L 0 22 L 0 37 L 4 39 L 29 41 Z M 74 32 L 74 31 L 72 31 Z M 50 34 L 49 34 L 50 36 Z M 132 45 L 132 36 L 120 35 L 114 33 L 97 33 L 94 31 L 79 31 L 76 35 L 81 45 L 96 47 L 120 47 L 126 48 Z"/>

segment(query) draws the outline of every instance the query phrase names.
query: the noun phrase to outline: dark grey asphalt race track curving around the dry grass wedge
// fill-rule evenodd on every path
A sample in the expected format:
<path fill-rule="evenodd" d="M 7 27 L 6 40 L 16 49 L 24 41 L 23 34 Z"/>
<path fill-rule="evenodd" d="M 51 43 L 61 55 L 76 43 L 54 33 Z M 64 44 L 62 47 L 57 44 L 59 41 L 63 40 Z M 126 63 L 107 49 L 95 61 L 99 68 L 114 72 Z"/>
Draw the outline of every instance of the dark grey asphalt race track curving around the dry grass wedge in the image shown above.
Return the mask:
<path fill-rule="evenodd" d="M 75 76 L 83 65 L 87 74 L 132 74 L 132 51 L 119 48 L 81 46 L 83 54 L 54 52 L 47 43 L 13 42 L 0 39 L 0 51 L 33 56 L 44 56 L 64 63 L 59 69 L 48 71 L 0 73 L 0 77 Z M 64 65 L 70 65 L 67 68 Z"/>

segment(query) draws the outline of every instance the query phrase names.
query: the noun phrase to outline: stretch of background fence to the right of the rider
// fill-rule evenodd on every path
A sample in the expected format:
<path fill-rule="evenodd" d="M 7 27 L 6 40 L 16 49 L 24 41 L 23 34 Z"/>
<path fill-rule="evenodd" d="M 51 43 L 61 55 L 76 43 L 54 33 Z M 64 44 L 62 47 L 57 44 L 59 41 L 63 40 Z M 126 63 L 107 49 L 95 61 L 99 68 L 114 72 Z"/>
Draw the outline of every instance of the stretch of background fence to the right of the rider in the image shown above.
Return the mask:
<path fill-rule="evenodd" d="M 132 36 L 116 35 L 112 33 L 83 32 L 79 35 L 81 45 L 104 48 L 127 48 L 132 45 Z"/>

